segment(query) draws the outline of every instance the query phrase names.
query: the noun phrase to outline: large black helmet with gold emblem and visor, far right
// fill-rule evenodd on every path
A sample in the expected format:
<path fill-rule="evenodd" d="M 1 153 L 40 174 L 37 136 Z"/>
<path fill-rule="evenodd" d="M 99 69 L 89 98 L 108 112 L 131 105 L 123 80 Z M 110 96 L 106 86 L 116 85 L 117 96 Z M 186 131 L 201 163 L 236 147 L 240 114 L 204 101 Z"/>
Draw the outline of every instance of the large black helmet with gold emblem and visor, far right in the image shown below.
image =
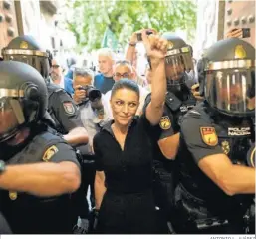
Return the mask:
<path fill-rule="evenodd" d="M 204 95 L 220 113 L 246 117 L 255 114 L 255 48 L 238 38 L 221 40 L 204 58 Z"/>

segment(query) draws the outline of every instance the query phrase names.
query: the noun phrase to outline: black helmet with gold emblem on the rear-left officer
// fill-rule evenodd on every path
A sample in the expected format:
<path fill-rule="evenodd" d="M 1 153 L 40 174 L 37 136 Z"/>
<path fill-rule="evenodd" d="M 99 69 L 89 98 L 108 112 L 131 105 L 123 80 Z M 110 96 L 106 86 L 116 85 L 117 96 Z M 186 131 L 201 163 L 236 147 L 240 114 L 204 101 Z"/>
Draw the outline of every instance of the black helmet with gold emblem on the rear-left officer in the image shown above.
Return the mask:
<path fill-rule="evenodd" d="M 49 77 L 51 54 L 43 49 L 32 36 L 14 38 L 2 49 L 4 60 L 13 60 L 29 64 L 36 68 L 44 79 Z"/>

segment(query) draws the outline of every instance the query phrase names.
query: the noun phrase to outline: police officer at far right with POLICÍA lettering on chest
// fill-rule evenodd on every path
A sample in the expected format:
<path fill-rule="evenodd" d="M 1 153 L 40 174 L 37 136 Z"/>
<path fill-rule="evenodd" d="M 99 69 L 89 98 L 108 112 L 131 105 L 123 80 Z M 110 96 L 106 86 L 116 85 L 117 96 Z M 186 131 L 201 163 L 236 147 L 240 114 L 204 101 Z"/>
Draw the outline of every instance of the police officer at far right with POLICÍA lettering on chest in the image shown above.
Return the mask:
<path fill-rule="evenodd" d="M 174 228 L 254 234 L 255 49 L 230 38 L 205 59 L 205 101 L 181 123 Z"/>

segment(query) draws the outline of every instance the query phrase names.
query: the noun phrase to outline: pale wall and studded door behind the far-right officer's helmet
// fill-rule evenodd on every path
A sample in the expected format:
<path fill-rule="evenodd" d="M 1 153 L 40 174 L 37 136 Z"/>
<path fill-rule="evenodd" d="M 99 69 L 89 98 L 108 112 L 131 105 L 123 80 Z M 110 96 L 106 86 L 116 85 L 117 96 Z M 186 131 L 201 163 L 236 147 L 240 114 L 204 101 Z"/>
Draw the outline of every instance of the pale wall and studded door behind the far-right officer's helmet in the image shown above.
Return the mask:
<path fill-rule="evenodd" d="M 255 46 L 254 0 L 198 0 L 195 58 L 234 28 L 250 28 L 251 37 L 244 40 Z"/>

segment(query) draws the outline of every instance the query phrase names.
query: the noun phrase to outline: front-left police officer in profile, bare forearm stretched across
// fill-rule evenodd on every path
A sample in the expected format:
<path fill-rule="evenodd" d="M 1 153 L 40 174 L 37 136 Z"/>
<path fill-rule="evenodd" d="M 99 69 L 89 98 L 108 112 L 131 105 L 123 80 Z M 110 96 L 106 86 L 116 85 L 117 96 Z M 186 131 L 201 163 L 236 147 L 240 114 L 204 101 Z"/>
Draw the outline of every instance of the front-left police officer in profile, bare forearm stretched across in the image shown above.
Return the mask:
<path fill-rule="evenodd" d="M 47 88 L 28 64 L 0 62 L 0 201 L 13 233 L 72 233 L 81 182 L 73 148 L 43 122 Z"/>

